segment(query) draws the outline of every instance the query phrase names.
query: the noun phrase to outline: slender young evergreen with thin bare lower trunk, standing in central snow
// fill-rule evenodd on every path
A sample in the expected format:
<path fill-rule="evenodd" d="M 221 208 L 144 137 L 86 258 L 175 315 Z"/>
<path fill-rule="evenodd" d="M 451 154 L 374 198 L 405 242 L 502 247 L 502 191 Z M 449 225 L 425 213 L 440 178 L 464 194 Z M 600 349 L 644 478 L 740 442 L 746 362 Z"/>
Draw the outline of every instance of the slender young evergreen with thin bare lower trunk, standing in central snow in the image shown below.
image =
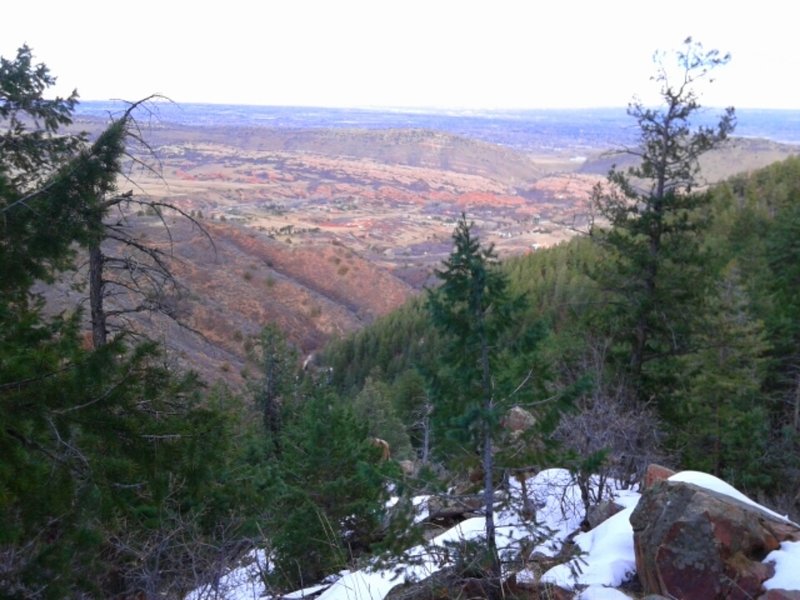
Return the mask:
<path fill-rule="evenodd" d="M 461 439 L 479 449 L 488 571 L 499 577 L 493 441 L 510 395 L 509 381 L 501 375 L 509 366 L 501 363 L 508 358 L 503 352 L 504 337 L 519 323 L 524 302 L 510 295 L 493 248 L 481 247 L 472 228 L 462 214 L 453 232 L 453 251 L 436 271 L 441 285 L 428 294 L 433 324 L 447 344 L 442 357 L 445 373 L 435 395 L 432 419 L 445 429 L 457 426 L 466 434 Z"/>

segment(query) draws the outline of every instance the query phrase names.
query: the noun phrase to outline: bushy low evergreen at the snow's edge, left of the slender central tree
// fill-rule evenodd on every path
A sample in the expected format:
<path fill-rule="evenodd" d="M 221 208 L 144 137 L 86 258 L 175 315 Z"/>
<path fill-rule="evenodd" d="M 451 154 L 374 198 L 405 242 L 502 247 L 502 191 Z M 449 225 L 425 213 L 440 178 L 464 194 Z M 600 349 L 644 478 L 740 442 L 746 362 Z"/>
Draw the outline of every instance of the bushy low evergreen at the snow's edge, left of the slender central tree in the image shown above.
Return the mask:
<path fill-rule="evenodd" d="M 386 463 L 367 424 L 329 389 L 307 389 L 270 467 L 273 577 L 288 588 L 340 571 L 378 539 Z"/>

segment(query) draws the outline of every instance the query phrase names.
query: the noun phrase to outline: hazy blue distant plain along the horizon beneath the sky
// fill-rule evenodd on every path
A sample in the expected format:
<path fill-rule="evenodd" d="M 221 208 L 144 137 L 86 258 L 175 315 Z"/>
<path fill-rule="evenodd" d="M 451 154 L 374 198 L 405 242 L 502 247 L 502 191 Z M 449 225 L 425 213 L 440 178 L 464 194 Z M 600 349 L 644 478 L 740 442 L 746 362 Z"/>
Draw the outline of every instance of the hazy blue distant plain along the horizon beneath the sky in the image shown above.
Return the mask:
<path fill-rule="evenodd" d="M 119 101 L 87 100 L 77 115 L 105 120 L 121 112 Z M 294 129 L 427 129 L 527 150 L 538 144 L 572 144 L 583 140 L 635 143 L 638 129 L 625 107 L 579 109 L 453 110 L 298 107 L 248 104 L 166 103 L 149 107 L 154 122 L 185 126 L 245 126 Z M 722 109 L 704 109 L 698 124 L 713 125 Z M 143 115 L 142 115 L 143 116 Z M 146 117 L 149 119 L 150 117 Z M 800 110 L 740 109 L 736 137 L 766 138 L 800 144 Z M 556 142 L 556 140 L 558 140 Z"/>

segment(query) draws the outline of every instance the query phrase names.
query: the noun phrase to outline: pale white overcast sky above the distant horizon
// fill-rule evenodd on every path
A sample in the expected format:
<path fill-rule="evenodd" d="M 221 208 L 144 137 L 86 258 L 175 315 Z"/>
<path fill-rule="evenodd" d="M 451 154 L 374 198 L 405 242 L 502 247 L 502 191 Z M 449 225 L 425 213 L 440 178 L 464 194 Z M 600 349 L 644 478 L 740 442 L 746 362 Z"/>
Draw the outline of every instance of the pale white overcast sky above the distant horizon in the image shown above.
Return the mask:
<path fill-rule="evenodd" d="M 656 50 L 731 62 L 706 106 L 800 109 L 784 0 L 5 0 L 0 55 L 27 43 L 85 100 L 453 109 L 657 100 Z"/>

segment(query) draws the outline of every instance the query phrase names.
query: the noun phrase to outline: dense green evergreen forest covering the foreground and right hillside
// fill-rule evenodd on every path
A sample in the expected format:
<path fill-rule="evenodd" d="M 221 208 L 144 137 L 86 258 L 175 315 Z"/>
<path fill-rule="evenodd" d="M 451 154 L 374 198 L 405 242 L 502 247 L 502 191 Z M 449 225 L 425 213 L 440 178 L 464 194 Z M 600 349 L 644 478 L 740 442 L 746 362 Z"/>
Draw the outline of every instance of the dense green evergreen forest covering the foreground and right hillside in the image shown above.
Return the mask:
<path fill-rule="evenodd" d="M 27 48 L 3 59 L 0 596 L 179 598 L 254 547 L 292 589 L 414 539 L 390 492 L 486 493 L 554 465 L 702 470 L 797 517 L 800 158 L 698 188 L 735 115 L 693 129 L 691 84 L 725 57 L 689 43 L 679 59 L 682 85 L 657 74 L 663 110 L 631 105 L 640 166 L 596 188 L 585 235 L 499 262 L 464 215 L 440 287 L 305 369 L 265 324 L 236 392 L 103 307 L 116 268 L 140 308 L 169 308 L 166 263 L 119 216 L 147 202 L 120 177 L 139 105 L 94 140 L 65 135 L 77 96 L 44 99 L 54 80 Z M 82 307 L 52 314 L 34 285 L 84 260 L 88 337 Z"/>

